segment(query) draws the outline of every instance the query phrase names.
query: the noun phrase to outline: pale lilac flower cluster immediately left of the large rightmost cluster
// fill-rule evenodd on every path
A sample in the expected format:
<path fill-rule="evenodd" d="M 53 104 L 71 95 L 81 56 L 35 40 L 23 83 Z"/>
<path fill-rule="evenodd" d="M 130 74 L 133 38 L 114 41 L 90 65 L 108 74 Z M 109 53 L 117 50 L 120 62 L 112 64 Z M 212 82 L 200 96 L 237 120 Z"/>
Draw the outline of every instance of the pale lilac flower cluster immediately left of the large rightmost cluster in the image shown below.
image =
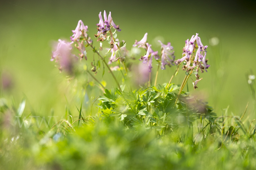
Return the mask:
<path fill-rule="evenodd" d="M 165 70 L 165 65 L 174 65 L 174 51 L 171 52 L 171 50 L 173 50 L 173 47 L 171 46 L 171 42 L 168 42 L 167 45 L 164 45 L 160 40 L 158 40 L 158 42 L 160 42 L 161 47 L 162 47 L 162 57 L 161 57 L 161 69 Z M 172 59 L 171 59 L 171 58 Z"/>

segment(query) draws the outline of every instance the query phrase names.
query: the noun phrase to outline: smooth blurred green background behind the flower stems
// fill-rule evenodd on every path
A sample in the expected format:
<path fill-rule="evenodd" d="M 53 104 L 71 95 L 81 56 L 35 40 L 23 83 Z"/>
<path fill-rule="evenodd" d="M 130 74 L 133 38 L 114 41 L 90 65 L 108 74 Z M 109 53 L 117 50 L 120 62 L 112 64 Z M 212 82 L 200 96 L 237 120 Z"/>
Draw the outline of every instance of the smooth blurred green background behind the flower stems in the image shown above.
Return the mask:
<path fill-rule="evenodd" d="M 255 5 L 250 0 L 1 0 L 0 69 L 12 77 L 13 84 L 11 90 L 3 91 L 2 97 L 12 97 L 18 103 L 26 96 L 35 112 L 44 115 L 49 115 L 51 109 L 63 114 L 67 101 L 73 108 L 79 105 L 81 97 L 79 101 L 76 93 L 70 93 L 78 86 L 73 87 L 55 63 L 50 62 L 51 44 L 59 38 L 69 40 L 79 20 L 88 26 L 88 34 L 93 38 L 99 11 L 106 10 L 111 11 L 114 22 L 122 29 L 118 38 L 127 42 L 127 49 L 148 32 L 148 42 L 154 50 L 160 51 L 155 43 L 155 38 L 160 37 L 164 43 L 172 43 L 178 59 L 185 40 L 199 33 L 203 44 L 209 46 L 207 58 L 211 66 L 208 73 L 201 74 L 203 80 L 196 91 L 189 80 L 189 91 L 208 101 L 218 114 L 230 105 L 229 114 L 240 115 L 247 102 L 247 113 L 253 114 L 245 74 L 250 70 L 256 73 Z M 212 37 L 218 38 L 218 45 L 209 44 Z M 99 43 L 95 41 L 94 45 Z M 88 60 L 92 56 L 88 55 Z M 168 82 L 174 70 L 174 67 L 161 70 L 159 83 Z M 97 75 L 100 79 L 101 74 Z M 181 84 L 184 76 L 180 71 L 173 82 Z M 107 87 L 111 88 L 112 84 L 108 83 Z"/>

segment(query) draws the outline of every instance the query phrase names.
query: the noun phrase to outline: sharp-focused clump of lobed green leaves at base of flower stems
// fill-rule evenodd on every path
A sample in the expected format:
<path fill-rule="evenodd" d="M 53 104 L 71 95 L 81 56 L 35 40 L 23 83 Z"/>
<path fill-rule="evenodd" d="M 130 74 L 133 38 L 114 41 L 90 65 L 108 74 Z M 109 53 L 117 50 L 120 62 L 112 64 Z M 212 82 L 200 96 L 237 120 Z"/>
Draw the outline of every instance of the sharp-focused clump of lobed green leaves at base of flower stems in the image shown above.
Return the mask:
<path fill-rule="evenodd" d="M 136 91 L 120 92 L 117 88 L 111 91 L 105 89 L 104 96 L 100 96 L 100 119 L 122 121 L 127 129 L 144 127 L 159 131 L 159 134 L 170 133 L 178 128 L 182 121 L 178 116 L 186 117 L 190 122 L 204 116 L 210 124 L 214 123 L 216 114 L 206 103 L 193 99 L 183 93 L 180 102 L 175 105 L 177 85 L 170 85 L 166 90 L 164 86 L 152 86 Z M 195 100 L 193 105 L 189 100 Z M 188 107 L 189 105 L 189 107 Z M 201 113 L 200 111 L 205 111 Z M 188 122 L 186 122 L 188 123 Z M 185 124 L 186 124 L 185 123 Z"/>

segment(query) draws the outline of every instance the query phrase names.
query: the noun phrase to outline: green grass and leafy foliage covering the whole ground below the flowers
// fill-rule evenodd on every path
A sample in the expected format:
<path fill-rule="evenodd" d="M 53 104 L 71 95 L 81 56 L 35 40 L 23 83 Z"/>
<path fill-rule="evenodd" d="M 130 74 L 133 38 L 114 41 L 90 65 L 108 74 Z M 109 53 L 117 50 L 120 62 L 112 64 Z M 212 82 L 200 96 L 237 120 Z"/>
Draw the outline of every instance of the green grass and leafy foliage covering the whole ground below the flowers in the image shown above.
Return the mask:
<path fill-rule="evenodd" d="M 254 169 L 244 115 L 233 125 L 185 92 L 175 105 L 179 86 L 164 87 L 105 89 L 95 116 L 84 117 L 81 105 L 72 113 L 79 119 L 67 115 L 50 129 L 23 121 L 25 100 L 16 107 L 1 99 L 0 169 Z"/>

